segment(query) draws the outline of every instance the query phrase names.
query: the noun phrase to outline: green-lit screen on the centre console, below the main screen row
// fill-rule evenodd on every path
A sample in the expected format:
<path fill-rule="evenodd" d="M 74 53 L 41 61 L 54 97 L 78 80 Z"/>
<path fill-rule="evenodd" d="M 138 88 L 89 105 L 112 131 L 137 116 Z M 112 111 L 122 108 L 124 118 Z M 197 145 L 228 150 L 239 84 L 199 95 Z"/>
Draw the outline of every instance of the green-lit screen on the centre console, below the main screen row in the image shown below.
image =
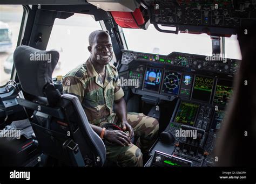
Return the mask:
<path fill-rule="evenodd" d="M 177 111 L 177 115 L 174 119 L 174 122 L 193 126 L 197 116 L 198 109 L 199 104 L 182 101 L 179 105 L 179 109 Z"/>

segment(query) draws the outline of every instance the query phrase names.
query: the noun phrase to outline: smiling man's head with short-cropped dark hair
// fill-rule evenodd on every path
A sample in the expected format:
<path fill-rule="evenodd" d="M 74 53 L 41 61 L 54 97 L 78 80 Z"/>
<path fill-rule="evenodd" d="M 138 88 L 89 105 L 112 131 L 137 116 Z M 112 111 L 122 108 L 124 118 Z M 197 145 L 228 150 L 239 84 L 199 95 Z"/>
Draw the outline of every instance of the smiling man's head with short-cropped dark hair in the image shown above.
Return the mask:
<path fill-rule="evenodd" d="M 113 55 L 112 43 L 109 34 L 100 33 L 96 36 L 92 46 L 88 47 L 91 59 L 98 65 L 107 65 Z"/>

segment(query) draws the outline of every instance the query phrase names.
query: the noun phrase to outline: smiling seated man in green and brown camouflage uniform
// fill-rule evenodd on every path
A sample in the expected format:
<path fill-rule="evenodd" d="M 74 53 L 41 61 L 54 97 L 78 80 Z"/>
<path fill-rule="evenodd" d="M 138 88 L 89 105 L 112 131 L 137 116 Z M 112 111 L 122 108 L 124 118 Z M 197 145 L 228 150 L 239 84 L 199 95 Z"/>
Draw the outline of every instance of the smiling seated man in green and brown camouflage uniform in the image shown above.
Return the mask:
<path fill-rule="evenodd" d="M 102 30 L 92 32 L 89 45 L 90 58 L 64 76 L 63 93 L 78 97 L 92 129 L 99 136 L 106 123 L 114 123 L 127 131 L 105 130 L 104 139 L 116 143 L 106 144 L 108 160 L 119 166 L 143 166 L 142 155 L 157 138 L 158 121 L 144 114 L 127 113 L 117 69 L 110 63 L 113 51 L 109 34 Z M 131 143 L 134 135 L 138 137 L 136 145 Z"/>

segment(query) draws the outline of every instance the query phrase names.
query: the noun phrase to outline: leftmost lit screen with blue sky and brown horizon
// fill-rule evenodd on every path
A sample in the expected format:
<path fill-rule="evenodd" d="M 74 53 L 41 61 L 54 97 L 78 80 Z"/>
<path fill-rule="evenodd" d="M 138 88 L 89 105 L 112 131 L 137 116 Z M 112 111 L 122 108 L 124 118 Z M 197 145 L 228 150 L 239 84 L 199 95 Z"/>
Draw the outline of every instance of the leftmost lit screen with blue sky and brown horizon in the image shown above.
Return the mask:
<path fill-rule="evenodd" d="M 161 75 L 163 73 L 162 69 L 159 68 L 146 68 L 145 78 L 144 78 L 144 90 L 159 92 L 161 84 Z"/>

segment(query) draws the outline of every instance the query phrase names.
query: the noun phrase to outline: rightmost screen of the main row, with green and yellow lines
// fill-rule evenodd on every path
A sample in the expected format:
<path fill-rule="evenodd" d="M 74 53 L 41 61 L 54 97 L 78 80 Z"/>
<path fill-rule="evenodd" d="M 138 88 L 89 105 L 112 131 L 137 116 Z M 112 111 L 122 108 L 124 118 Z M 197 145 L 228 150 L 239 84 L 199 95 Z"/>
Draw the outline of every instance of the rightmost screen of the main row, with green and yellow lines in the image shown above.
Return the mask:
<path fill-rule="evenodd" d="M 219 104 L 225 106 L 227 102 L 233 96 L 233 88 L 231 81 L 218 80 L 214 95 L 214 104 Z"/>

